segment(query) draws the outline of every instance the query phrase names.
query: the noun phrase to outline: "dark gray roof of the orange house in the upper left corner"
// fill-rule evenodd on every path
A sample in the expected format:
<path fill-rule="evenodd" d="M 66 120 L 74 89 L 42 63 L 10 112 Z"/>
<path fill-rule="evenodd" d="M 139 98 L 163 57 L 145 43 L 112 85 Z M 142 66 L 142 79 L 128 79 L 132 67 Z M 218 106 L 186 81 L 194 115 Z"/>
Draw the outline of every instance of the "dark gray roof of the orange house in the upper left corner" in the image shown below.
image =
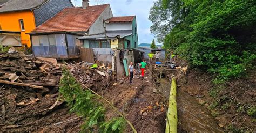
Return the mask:
<path fill-rule="evenodd" d="M 2 1 L 2 0 L 1 0 Z M 6 1 L 6 0 L 4 0 Z M 1 2 L 0 13 L 1 12 L 11 12 L 11 11 L 22 11 L 36 8 L 42 5 L 48 0 L 8 0 L 7 2 Z"/>

